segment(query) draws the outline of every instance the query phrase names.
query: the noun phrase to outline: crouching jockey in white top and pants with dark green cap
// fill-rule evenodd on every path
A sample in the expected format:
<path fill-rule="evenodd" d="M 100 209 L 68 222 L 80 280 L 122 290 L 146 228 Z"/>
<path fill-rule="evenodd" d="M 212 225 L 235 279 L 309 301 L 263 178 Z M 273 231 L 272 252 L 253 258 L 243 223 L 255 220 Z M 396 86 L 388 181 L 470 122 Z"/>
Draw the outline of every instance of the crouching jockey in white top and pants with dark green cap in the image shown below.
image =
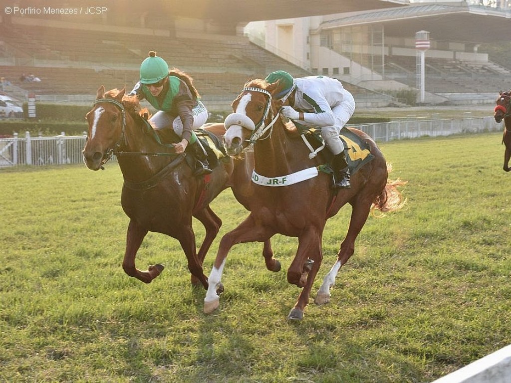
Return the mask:
<path fill-rule="evenodd" d="M 344 157 L 344 145 L 339 137 L 342 127 L 355 112 L 353 95 L 344 89 L 341 82 L 325 76 L 309 76 L 293 79 L 278 70 L 266 77 L 266 82 L 279 81 L 278 92 L 274 95 L 283 103 L 280 113 L 300 125 L 321 128 L 321 137 L 334 154 L 332 167 L 335 186 L 350 188 L 350 171 Z"/>

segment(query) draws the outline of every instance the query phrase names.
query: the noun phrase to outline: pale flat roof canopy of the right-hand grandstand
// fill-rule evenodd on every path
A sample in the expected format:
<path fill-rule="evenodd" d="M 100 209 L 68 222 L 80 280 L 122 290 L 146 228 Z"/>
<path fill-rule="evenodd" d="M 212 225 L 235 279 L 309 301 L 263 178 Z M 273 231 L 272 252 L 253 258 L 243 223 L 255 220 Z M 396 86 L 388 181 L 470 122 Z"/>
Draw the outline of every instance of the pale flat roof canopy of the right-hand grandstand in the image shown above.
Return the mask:
<path fill-rule="evenodd" d="M 412 4 L 408 7 L 375 10 L 325 21 L 321 29 L 376 24 L 385 27 L 385 35 L 414 37 L 426 30 L 436 41 L 497 42 L 509 41 L 511 12 L 488 7 L 446 4 Z"/>

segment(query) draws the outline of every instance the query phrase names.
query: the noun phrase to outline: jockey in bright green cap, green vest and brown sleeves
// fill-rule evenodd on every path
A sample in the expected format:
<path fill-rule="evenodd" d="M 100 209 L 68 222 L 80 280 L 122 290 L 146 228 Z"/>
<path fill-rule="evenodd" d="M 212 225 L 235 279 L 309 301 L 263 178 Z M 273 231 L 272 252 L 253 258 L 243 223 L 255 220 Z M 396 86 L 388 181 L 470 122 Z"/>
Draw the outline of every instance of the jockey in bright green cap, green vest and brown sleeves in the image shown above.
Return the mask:
<path fill-rule="evenodd" d="M 190 143 L 197 158 L 194 175 L 209 174 L 212 170 L 207 154 L 193 129 L 200 128 L 208 117 L 207 109 L 200 101 L 199 93 L 192 84 L 192 78 L 179 69 L 169 70 L 169 65 L 156 52 L 149 52 L 140 66 L 140 81 L 130 95 L 139 100 L 146 99 L 158 110 L 149 121 L 154 129 L 172 129 L 181 141 L 174 145 L 177 153 L 183 153 Z"/>

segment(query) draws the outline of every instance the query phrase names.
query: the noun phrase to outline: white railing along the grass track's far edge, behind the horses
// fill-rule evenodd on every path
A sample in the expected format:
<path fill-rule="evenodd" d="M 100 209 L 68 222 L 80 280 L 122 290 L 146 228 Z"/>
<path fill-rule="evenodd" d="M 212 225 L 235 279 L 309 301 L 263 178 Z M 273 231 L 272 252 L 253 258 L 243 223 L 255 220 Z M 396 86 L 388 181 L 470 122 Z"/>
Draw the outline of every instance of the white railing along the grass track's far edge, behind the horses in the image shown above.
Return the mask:
<path fill-rule="evenodd" d="M 503 129 L 493 117 L 459 119 L 424 119 L 389 123 L 350 125 L 369 134 L 376 141 L 410 139 L 423 136 L 448 136 L 458 133 L 482 133 Z M 0 138 L 0 167 L 17 165 L 58 165 L 82 163 L 86 136 L 18 136 Z"/>

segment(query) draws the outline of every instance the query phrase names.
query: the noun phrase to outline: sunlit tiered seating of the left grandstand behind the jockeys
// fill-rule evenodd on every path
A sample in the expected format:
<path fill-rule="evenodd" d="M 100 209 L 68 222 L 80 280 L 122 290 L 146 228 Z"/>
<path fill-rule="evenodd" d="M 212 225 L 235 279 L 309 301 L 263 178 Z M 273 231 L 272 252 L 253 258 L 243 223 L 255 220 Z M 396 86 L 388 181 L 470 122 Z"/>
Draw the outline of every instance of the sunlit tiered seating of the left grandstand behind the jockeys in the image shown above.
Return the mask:
<path fill-rule="evenodd" d="M 63 101 L 78 100 L 82 94 L 90 101 L 101 84 L 108 89 L 129 88 L 137 81 L 138 67 L 149 50 L 190 73 L 206 98 L 232 101 L 247 79 L 264 77 L 278 68 L 308 74 L 244 37 L 170 38 L 140 35 L 129 28 L 105 33 L 50 24 L 0 25 L 4 47 L 0 73 L 11 81 L 11 91 L 18 97 L 35 92 L 40 100 Z M 24 82 L 21 74 L 34 74 L 41 82 Z"/>

